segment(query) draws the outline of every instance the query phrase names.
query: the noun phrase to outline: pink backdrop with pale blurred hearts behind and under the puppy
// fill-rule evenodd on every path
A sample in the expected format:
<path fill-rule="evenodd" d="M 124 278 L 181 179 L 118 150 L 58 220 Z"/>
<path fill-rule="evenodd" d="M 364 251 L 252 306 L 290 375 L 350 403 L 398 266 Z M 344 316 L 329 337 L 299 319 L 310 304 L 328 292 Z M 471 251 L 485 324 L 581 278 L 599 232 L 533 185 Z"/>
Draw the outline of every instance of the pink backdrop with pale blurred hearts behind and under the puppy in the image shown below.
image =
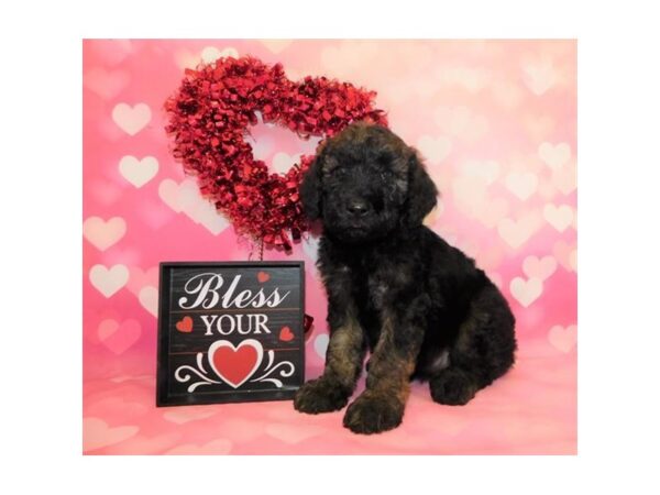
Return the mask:
<path fill-rule="evenodd" d="M 257 254 L 172 158 L 163 105 L 185 68 L 241 55 L 280 62 L 292 80 L 376 90 L 391 128 L 426 158 L 441 191 L 427 224 L 477 261 L 517 317 L 515 369 L 469 406 L 439 406 L 415 384 L 404 425 L 376 438 L 289 402 L 155 408 L 158 263 Z M 86 453 L 576 451 L 575 42 L 94 40 L 82 73 Z M 254 156 L 279 174 L 318 144 L 262 122 L 250 131 Z M 306 262 L 308 378 L 328 345 L 317 245 L 264 255 Z"/>

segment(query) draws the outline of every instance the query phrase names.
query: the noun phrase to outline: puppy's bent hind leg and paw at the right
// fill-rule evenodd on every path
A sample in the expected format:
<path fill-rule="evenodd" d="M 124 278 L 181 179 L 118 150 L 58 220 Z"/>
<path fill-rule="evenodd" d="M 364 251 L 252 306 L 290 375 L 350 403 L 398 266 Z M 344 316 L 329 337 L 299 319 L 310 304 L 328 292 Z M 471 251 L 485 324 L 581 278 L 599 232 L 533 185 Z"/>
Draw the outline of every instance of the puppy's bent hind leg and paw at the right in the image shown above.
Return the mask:
<path fill-rule="evenodd" d="M 514 364 L 514 326 L 506 299 L 488 284 L 471 304 L 449 351 L 449 366 L 429 380 L 433 400 L 468 404 L 480 389 L 504 375 Z"/>

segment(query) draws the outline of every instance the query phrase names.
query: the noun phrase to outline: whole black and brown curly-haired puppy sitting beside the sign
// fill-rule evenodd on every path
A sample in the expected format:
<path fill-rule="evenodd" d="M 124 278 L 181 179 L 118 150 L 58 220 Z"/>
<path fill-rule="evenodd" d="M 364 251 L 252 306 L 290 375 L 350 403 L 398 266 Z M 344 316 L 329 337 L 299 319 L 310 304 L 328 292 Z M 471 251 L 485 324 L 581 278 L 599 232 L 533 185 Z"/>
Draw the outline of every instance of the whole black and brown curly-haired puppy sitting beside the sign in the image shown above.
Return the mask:
<path fill-rule="evenodd" d="M 356 433 L 402 422 L 411 378 L 435 402 L 463 405 L 514 363 L 514 316 L 474 261 L 421 224 L 438 191 L 417 153 L 365 123 L 328 140 L 300 188 L 321 219 L 318 267 L 328 293 L 330 343 L 323 374 L 294 406 L 341 409 L 366 350 L 366 389 L 343 424 Z"/>

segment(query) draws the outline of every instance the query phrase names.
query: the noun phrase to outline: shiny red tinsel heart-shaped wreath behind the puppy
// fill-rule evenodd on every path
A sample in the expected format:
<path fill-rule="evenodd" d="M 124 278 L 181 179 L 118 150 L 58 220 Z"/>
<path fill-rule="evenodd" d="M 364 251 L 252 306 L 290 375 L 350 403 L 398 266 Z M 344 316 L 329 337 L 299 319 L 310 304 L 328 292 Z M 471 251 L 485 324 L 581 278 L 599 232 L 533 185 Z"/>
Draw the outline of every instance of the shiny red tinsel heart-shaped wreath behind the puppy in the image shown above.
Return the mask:
<path fill-rule="evenodd" d="M 302 139 L 324 139 L 358 120 L 387 125 L 383 110 L 373 106 L 375 96 L 326 77 L 290 81 L 282 64 L 219 58 L 186 69 L 178 92 L 165 102 L 166 130 L 174 136 L 175 158 L 197 176 L 202 195 L 237 232 L 290 250 L 290 239 L 308 228 L 298 188 L 314 156 L 302 156 L 285 175 L 270 174 L 244 140 L 257 123 L 256 112 Z"/>

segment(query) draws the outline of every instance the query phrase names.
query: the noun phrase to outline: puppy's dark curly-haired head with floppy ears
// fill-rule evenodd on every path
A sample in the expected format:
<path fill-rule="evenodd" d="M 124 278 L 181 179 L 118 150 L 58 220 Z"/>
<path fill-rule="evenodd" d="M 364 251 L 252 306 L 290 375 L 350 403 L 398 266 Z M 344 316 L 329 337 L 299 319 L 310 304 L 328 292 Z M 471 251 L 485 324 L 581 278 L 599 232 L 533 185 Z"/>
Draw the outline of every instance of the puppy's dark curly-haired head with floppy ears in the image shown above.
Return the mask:
<path fill-rule="evenodd" d="M 421 224 L 437 195 L 415 150 L 388 129 L 362 122 L 323 143 L 300 186 L 306 215 L 353 244 Z"/>

